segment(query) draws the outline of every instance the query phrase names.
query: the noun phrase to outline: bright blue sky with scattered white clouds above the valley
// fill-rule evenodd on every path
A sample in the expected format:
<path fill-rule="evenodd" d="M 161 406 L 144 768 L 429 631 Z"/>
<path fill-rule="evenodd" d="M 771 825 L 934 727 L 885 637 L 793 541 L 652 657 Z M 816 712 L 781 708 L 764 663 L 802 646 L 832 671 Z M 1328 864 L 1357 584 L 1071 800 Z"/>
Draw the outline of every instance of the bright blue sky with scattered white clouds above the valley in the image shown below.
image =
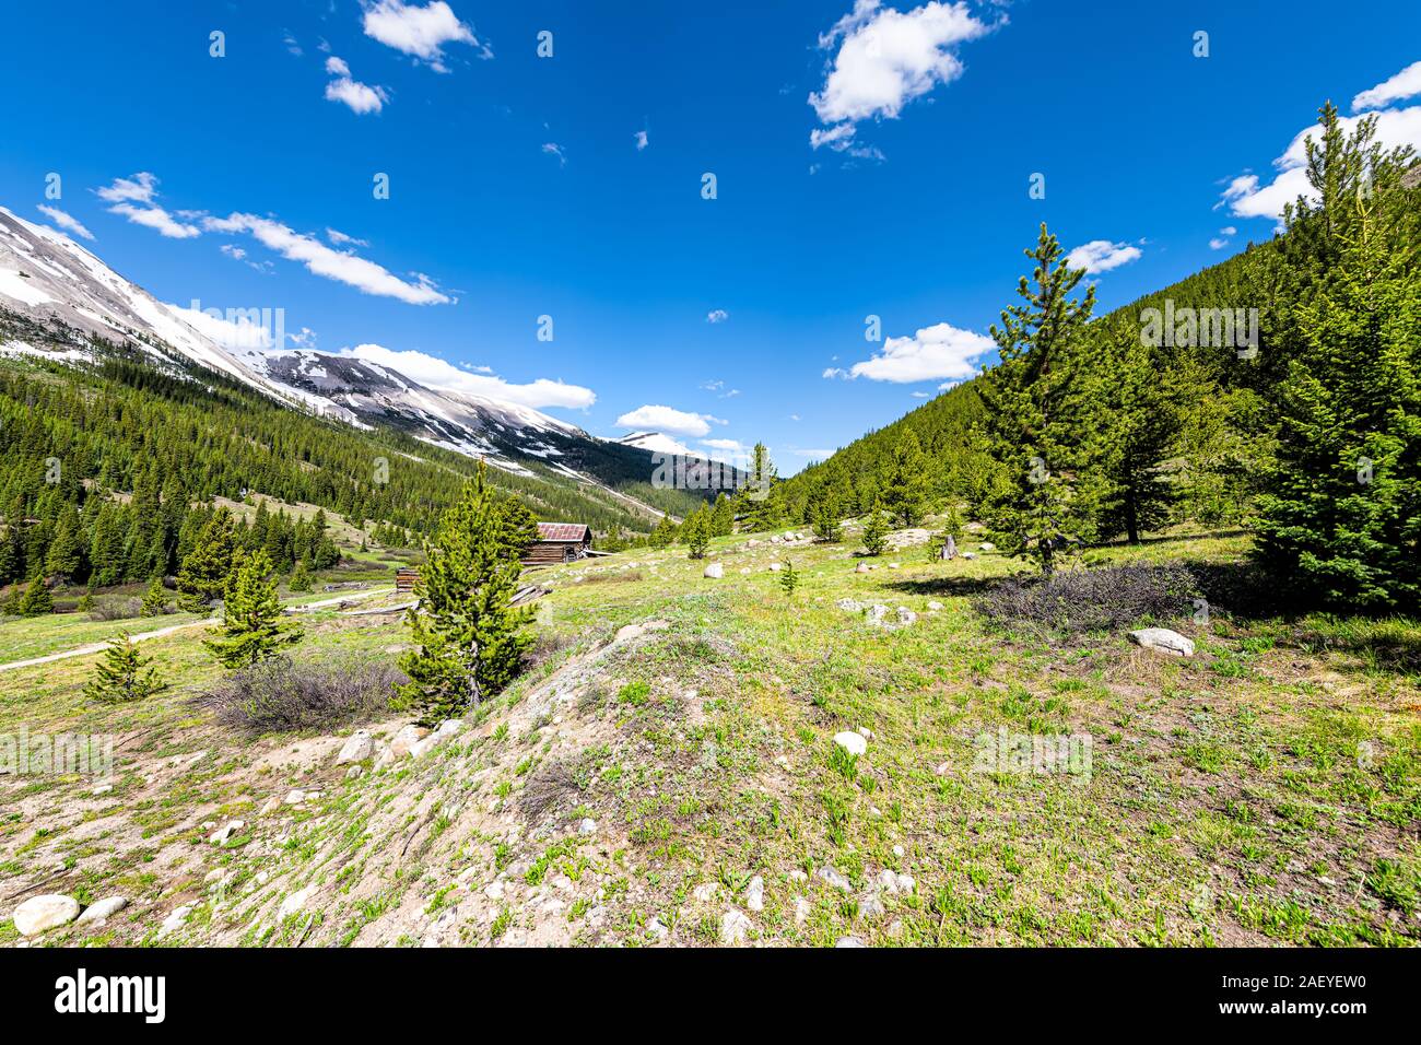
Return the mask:
<path fill-rule="evenodd" d="M 1415 3 L 125 7 L 0 16 L 0 203 L 163 301 L 782 472 L 989 361 L 1040 220 L 1114 307 L 1269 236 L 1324 98 L 1421 142 Z"/>

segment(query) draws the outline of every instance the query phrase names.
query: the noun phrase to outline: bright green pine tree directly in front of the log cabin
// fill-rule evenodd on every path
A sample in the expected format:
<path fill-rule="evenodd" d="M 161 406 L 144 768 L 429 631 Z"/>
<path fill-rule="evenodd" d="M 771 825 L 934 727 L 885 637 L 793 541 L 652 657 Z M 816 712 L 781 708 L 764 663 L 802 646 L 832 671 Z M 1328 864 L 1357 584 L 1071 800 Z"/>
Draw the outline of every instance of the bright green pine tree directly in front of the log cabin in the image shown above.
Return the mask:
<path fill-rule="evenodd" d="M 533 614 L 510 606 L 522 573 L 510 533 L 480 462 L 419 570 L 419 604 L 409 611 L 419 648 L 401 657 L 409 682 L 398 688 L 396 709 L 438 722 L 497 695 L 517 674 Z"/>

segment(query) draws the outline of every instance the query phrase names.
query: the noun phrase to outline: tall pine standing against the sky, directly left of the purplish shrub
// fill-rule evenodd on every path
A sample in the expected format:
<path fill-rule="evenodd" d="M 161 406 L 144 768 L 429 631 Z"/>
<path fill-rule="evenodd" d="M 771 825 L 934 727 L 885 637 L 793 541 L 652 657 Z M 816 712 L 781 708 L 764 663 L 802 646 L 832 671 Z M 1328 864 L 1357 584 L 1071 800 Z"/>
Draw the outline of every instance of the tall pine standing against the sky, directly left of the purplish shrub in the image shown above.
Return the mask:
<path fill-rule="evenodd" d="M 1023 304 L 1003 310 L 1002 326 L 992 326 L 1002 361 L 980 381 L 988 449 L 1002 468 L 982 510 L 1002 550 L 1034 560 L 1046 574 L 1061 553 L 1093 536 L 1094 520 L 1077 472 L 1088 434 L 1074 384 L 1076 343 L 1096 291 L 1080 301 L 1070 297 L 1084 272 L 1067 267 L 1061 253 L 1042 223 L 1036 250 L 1026 252 L 1036 262 L 1036 286 L 1023 276 Z"/>

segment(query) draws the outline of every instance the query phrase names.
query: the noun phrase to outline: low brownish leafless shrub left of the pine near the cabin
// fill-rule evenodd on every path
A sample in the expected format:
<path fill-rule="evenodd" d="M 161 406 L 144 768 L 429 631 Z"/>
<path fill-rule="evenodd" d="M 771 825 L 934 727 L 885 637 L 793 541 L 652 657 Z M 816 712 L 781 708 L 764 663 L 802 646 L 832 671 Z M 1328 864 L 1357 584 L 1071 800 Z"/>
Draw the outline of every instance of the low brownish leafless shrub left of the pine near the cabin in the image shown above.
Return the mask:
<path fill-rule="evenodd" d="M 274 657 L 232 672 L 196 702 L 223 725 L 249 734 L 333 732 L 387 715 L 394 688 L 408 681 L 384 661 L 344 657 L 294 664 Z"/>

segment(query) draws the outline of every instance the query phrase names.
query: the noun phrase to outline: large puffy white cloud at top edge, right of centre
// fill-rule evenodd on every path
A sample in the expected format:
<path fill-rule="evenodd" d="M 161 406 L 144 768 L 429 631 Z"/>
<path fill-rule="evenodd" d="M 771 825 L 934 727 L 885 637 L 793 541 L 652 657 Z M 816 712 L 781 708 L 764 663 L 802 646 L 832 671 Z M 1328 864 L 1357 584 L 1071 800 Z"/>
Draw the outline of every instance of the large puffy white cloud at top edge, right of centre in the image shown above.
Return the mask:
<path fill-rule="evenodd" d="M 1003 16 L 998 26 L 1005 21 Z M 810 134 L 810 145 L 861 155 L 851 145 L 861 121 L 897 119 L 909 101 L 961 77 L 956 47 L 993 28 L 975 18 L 966 3 L 929 0 L 902 13 L 880 0 L 855 0 L 854 10 L 818 38 L 821 50 L 837 44 L 838 54 L 824 85 L 809 97 L 824 125 Z"/>

